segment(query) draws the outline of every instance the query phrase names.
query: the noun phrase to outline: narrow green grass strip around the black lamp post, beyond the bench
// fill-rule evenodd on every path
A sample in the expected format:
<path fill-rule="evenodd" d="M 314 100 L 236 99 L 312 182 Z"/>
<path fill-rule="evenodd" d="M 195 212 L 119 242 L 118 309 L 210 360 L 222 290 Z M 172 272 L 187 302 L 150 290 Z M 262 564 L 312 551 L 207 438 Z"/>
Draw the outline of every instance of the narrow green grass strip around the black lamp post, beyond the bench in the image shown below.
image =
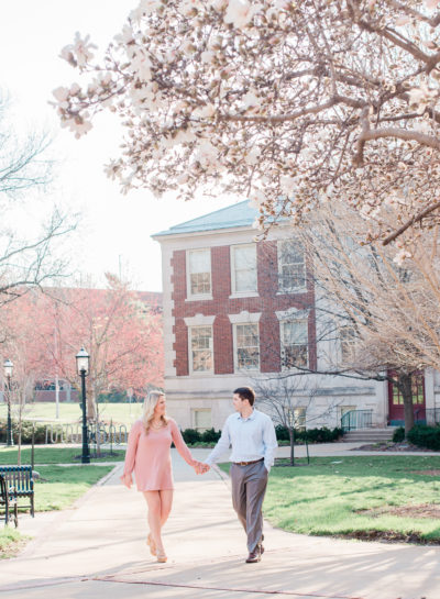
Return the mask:
<path fill-rule="evenodd" d="M 109 450 L 102 450 L 103 454 L 108 454 Z M 91 462 L 123 462 L 125 456 L 124 450 L 113 450 L 114 455 L 105 455 L 103 457 L 92 457 Z M 35 464 L 80 464 L 81 447 L 40 447 L 35 445 L 34 461 Z M 8 448 L 0 447 L 0 464 L 15 465 L 18 458 L 16 447 Z M 23 465 L 31 464 L 31 450 L 21 450 L 21 463 Z"/>

